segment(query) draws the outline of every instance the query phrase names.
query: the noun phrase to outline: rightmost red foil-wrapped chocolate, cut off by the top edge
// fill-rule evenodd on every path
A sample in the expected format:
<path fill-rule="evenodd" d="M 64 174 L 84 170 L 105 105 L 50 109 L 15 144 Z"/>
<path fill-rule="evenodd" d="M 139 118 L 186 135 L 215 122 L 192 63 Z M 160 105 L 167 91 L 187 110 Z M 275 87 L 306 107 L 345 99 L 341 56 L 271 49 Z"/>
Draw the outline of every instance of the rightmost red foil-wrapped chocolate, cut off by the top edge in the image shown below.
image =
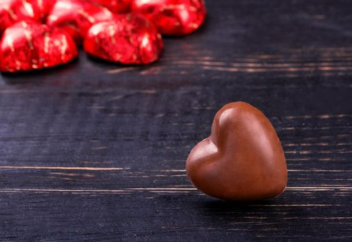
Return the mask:
<path fill-rule="evenodd" d="M 132 11 L 145 15 L 163 35 L 188 35 L 205 20 L 204 0 L 133 0 Z"/>

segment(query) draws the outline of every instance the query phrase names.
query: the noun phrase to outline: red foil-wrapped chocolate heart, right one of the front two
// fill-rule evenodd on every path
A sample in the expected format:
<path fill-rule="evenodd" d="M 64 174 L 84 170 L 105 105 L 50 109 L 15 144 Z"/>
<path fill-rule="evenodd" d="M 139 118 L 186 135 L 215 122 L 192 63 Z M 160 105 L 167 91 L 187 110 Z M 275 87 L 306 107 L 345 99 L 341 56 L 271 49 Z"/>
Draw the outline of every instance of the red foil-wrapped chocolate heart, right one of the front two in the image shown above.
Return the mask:
<path fill-rule="evenodd" d="M 111 62 L 149 64 L 160 57 L 163 39 L 147 18 L 130 13 L 92 26 L 84 50 Z"/>

